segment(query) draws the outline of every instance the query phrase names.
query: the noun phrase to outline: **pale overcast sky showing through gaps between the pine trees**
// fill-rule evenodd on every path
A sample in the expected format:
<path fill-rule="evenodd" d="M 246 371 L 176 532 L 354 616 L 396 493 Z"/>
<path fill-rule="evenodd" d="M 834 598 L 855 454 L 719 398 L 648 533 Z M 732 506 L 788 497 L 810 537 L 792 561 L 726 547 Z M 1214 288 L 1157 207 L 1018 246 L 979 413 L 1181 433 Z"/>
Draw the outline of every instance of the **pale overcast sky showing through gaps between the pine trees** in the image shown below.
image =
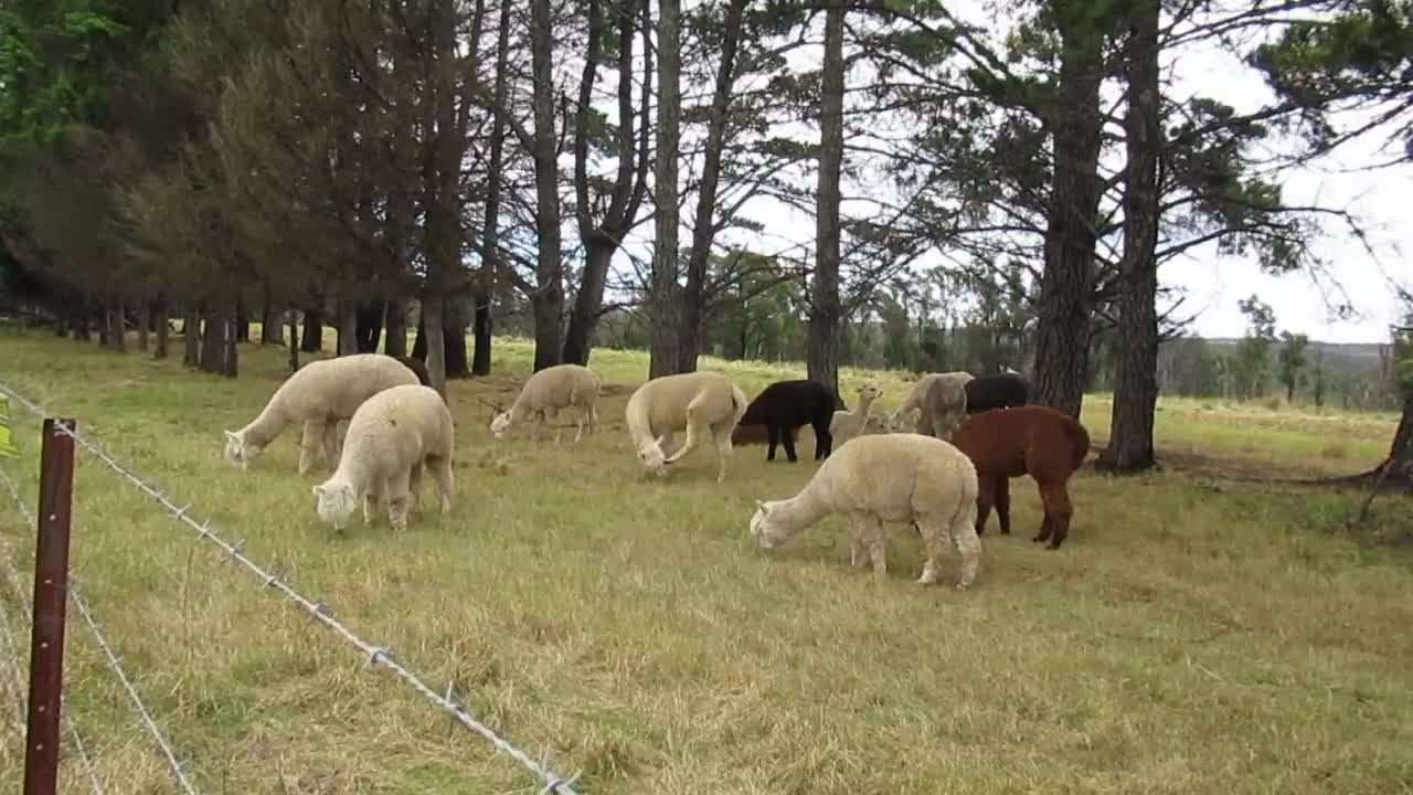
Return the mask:
<path fill-rule="evenodd" d="M 993 33 L 1009 30 L 1003 18 L 1010 16 L 1007 11 L 1013 7 L 986 6 L 991 6 L 989 0 L 948 3 L 948 8 L 966 21 L 985 25 Z M 818 37 L 814 38 L 818 41 Z M 801 68 L 818 68 L 821 51 L 818 47 L 810 47 L 797 51 L 790 59 Z M 1217 47 L 1187 47 L 1177 52 L 1166 52 L 1163 68 L 1173 78 L 1177 96 L 1208 96 L 1234 106 L 1238 112 L 1256 110 L 1272 98 L 1270 89 L 1255 69 Z M 853 79 L 859 76 L 855 75 Z M 817 127 L 812 124 L 790 124 L 790 127 L 796 127 L 801 139 L 818 140 Z M 1246 330 L 1246 318 L 1241 314 L 1238 301 L 1256 294 L 1272 306 L 1277 331 L 1304 332 L 1311 340 L 1328 342 L 1386 341 L 1389 324 L 1395 323 L 1400 313 L 1389 282 L 1393 279 L 1402 284 L 1413 283 L 1413 269 L 1403 262 L 1403 252 L 1413 252 L 1413 228 L 1406 222 L 1413 208 L 1413 167 L 1375 173 L 1351 171 L 1386 160 L 1386 156 L 1381 158 L 1376 151 L 1383 143 L 1381 136 L 1354 141 L 1341 150 L 1338 157 L 1290 171 L 1280 180 L 1286 202 L 1290 205 L 1340 208 L 1359 216 L 1376 256 L 1371 256 L 1361 242 L 1352 239 L 1348 231 L 1334 221 L 1327 224 L 1327 235 L 1313 245 L 1317 255 L 1331 265 L 1332 280 L 1317 280 L 1310 273 L 1266 276 L 1256 267 L 1255 260 L 1221 256 L 1215 245 L 1193 249 L 1187 256 L 1164 263 L 1159 273 L 1164 284 L 1187 291 L 1187 301 L 1178 315 L 1187 317 L 1200 311 L 1193 331 L 1202 337 L 1241 337 Z M 1121 160 L 1115 161 L 1113 157 Z M 1105 160 L 1118 167 L 1122 164 L 1122 154 L 1109 153 Z M 684 164 L 684 178 L 687 171 Z M 811 173 L 810 182 L 812 178 Z M 780 250 L 798 243 L 812 250 L 812 215 L 769 199 L 766 204 L 773 207 L 762 211 L 762 204 L 756 201 L 747 205 L 747 214 L 766 225 L 763 235 L 745 235 L 756 243 L 753 248 Z M 684 222 L 690 221 L 694 207 L 694 201 L 688 204 Z M 651 236 L 650 224 L 639 226 L 625 240 L 625 248 L 637 257 L 650 259 Z M 739 239 L 739 235 L 732 233 L 728 238 Z M 688 229 L 682 229 L 681 239 L 684 243 L 690 239 Z M 934 265 L 940 262 L 934 256 L 924 259 Z M 1334 315 L 1331 307 L 1345 303 L 1352 306 L 1355 314 L 1341 320 Z"/>

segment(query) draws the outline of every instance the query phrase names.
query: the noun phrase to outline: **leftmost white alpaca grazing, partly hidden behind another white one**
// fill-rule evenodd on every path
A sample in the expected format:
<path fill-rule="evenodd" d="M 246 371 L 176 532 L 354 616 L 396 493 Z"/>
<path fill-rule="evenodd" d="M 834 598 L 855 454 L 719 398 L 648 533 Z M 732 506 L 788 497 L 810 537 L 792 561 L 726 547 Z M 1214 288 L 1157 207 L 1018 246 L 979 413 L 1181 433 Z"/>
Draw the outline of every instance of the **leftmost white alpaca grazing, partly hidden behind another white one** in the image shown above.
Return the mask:
<path fill-rule="evenodd" d="M 355 354 L 309 362 L 287 378 L 264 410 L 240 430 L 226 431 L 226 460 L 249 468 L 290 424 L 302 424 L 300 474 L 339 457 L 339 423 L 365 400 L 398 385 L 418 383 L 417 373 L 393 356 Z"/>

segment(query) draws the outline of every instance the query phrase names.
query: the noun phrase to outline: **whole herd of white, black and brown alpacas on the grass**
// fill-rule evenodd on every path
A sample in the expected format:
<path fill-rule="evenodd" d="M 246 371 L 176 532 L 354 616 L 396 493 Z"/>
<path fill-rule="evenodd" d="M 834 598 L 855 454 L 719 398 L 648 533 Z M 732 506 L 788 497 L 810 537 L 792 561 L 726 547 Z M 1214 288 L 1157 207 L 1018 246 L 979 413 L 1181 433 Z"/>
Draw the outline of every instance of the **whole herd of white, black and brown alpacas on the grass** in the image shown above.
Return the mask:
<path fill-rule="evenodd" d="M 534 436 L 572 412 L 574 440 L 598 429 L 602 381 L 589 368 L 557 365 L 531 375 L 509 407 L 497 406 L 490 430 L 506 439 L 516 424 Z M 1036 542 L 1064 543 L 1074 512 L 1068 482 L 1089 453 L 1089 434 L 1063 412 L 1029 405 L 1030 388 L 1017 373 L 972 376 L 931 373 L 913 385 L 893 413 L 873 413 L 883 395 L 859 388 L 851 412 L 815 381 L 781 381 L 755 400 L 714 371 L 667 375 L 643 383 L 627 400 L 625 419 L 642 467 L 666 475 L 698 446 L 716 448 L 716 482 L 726 478 L 733 444 L 764 441 L 766 460 L 783 446 L 796 461 L 797 431 L 814 430 L 814 458 L 824 461 L 788 499 L 756 501 L 749 530 L 763 549 L 780 546 L 831 513 L 849 523 L 849 563 L 887 574 L 883 523 L 911 525 L 926 562 L 918 584 L 937 583 L 950 542 L 961 556 L 958 588 L 981 563 L 981 533 L 995 508 L 1010 533 L 1010 478 L 1030 475 L 1044 518 Z M 305 365 L 276 389 L 260 414 L 226 431 L 226 458 L 246 468 L 287 426 L 301 426 L 300 474 L 317 465 L 333 474 L 314 487 L 321 521 L 342 532 L 362 504 L 373 525 L 386 504 L 389 523 L 404 530 L 418 511 L 422 470 L 437 480 L 441 512 L 451 509 L 455 429 L 422 362 L 359 354 Z M 346 426 L 346 427 L 345 427 Z M 342 430 L 341 430 L 342 429 Z M 677 434 L 685 434 L 673 453 Z M 558 431 L 555 433 L 558 441 Z M 335 464 L 336 461 L 336 464 Z"/>

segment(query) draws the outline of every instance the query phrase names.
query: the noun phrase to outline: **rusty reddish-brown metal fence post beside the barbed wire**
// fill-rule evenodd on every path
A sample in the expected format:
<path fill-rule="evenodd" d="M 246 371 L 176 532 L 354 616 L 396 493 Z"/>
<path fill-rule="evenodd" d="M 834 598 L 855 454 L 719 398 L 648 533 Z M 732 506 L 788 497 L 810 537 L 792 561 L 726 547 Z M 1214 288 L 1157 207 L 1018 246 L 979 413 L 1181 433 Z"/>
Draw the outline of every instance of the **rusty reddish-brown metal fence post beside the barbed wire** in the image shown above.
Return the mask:
<path fill-rule="evenodd" d="M 40 453 L 40 528 L 34 552 L 34 627 L 30 635 L 30 714 L 24 741 L 24 795 L 54 795 L 59 779 L 59 696 L 64 690 L 64 617 L 69 584 L 73 506 L 71 419 L 44 420 Z"/>

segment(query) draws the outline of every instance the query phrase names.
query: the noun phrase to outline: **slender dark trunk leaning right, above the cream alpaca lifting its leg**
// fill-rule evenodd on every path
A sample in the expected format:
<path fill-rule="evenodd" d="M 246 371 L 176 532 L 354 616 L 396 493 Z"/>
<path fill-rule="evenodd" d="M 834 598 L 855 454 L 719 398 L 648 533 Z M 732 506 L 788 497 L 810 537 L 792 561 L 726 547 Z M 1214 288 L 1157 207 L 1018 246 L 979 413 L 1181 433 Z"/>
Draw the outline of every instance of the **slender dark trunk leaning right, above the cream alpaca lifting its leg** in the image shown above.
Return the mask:
<path fill-rule="evenodd" d="M 716 238 L 716 185 L 721 180 L 721 151 L 726 137 L 726 110 L 731 105 L 732 86 L 736 82 L 736 42 L 740 38 L 740 24 L 745 10 L 746 0 L 731 0 L 726 6 L 726 24 L 722 28 L 721 62 L 716 65 L 716 85 L 712 88 L 711 115 L 706 120 L 706 150 L 702 160 L 701 187 L 697 192 L 697 219 L 692 228 L 692 248 L 687 255 L 687 286 L 682 290 L 682 317 L 680 327 L 681 340 L 678 340 L 677 344 L 678 372 L 694 372 L 697 369 L 697 356 L 701 354 L 702 324 L 706 320 L 705 306 L 708 298 L 705 294 L 706 267 L 711 263 L 711 248 Z M 844 11 L 841 10 L 841 18 L 842 13 Z M 841 153 L 844 143 L 842 69 L 841 44 Z M 838 185 L 838 182 L 835 182 L 835 185 Z M 838 194 L 838 191 L 835 191 L 835 194 Z M 838 209 L 838 205 L 835 205 L 835 209 Z"/>

